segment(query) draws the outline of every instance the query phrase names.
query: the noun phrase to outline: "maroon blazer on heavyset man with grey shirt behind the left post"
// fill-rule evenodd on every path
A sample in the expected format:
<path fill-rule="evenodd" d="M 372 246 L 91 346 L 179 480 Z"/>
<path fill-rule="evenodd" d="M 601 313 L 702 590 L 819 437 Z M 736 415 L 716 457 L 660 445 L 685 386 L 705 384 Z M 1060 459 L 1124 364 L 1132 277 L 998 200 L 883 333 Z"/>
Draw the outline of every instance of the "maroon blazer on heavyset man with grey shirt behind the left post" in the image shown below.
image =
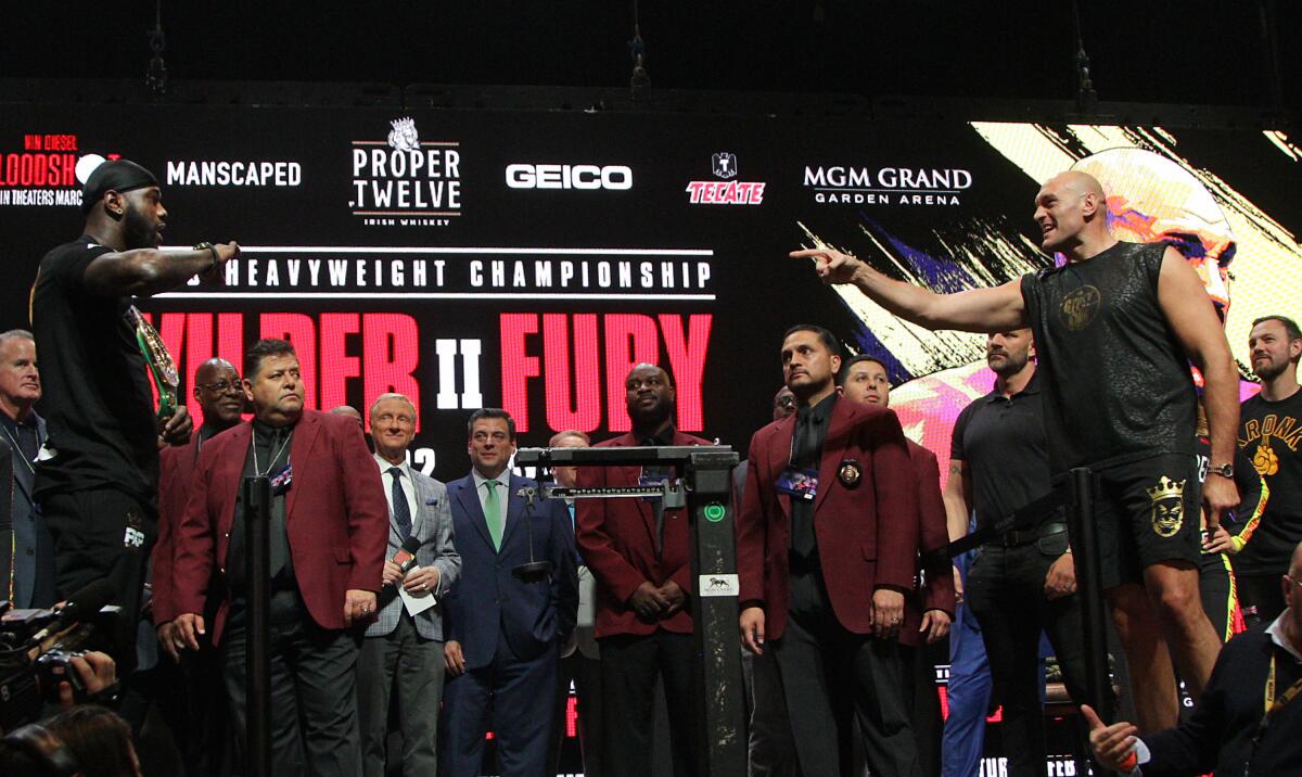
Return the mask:
<path fill-rule="evenodd" d="M 202 613 L 212 567 L 223 582 L 245 457 L 253 440 L 246 422 L 203 445 L 174 552 L 177 613 Z M 293 482 L 285 497 L 285 531 L 294 577 L 307 612 L 323 629 L 344 629 L 348 590 L 379 591 L 389 535 L 380 471 L 357 422 L 305 410 L 289 446 Z M 229 584 L 208 626 L 221 638 Z"/>

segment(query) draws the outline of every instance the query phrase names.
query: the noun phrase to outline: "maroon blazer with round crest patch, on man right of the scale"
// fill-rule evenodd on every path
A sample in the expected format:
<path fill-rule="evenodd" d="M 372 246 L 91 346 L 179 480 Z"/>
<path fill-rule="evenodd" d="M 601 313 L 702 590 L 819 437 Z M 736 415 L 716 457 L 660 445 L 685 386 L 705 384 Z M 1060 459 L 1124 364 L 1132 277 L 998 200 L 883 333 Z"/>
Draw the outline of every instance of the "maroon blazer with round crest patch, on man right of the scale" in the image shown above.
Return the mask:
<path fill-rule="evenodd" d="M 792 452 L 796 416 L 755 432 L 737 521 L 741 607 L 763 607 L 764 633 L 786 629 L 792 504 L 775 489 Z M 857 483 L 838 479 L 842 463 Z M 900 420 L 891 410 L 837 397 L 823 443 L 814 534 L 832 610 L 846 630 L 871 631 L 872 592 L 913 590 L 918 564 L 918 488 Z M 907 595 L 906 595 L 907 596 Z"/>

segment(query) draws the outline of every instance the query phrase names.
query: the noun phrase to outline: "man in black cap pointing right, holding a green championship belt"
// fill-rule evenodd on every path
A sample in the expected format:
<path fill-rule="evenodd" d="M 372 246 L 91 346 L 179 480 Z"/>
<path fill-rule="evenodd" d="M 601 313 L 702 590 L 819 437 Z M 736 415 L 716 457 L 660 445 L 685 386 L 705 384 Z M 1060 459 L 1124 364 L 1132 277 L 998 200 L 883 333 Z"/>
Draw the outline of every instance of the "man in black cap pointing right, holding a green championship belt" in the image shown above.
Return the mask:
<path fill-rule="evenodd" d="M 129 670 L 158 527 L 160 440 L 185 444 L 193 427 L 185 405 L 154 413 L 132 297 L 167 292 L 197 273 L 215 281 L 240 247 L 160 251 L 167 208 L 158 180 L 125 159 L 91 173 L 82 212 L 82 236 L 46 254 L 31 292 L 49 428 L 35 495 L 55 540 L 59 595 L 99 578 L 117 586 L 124 612 L 115 657 Z"/>

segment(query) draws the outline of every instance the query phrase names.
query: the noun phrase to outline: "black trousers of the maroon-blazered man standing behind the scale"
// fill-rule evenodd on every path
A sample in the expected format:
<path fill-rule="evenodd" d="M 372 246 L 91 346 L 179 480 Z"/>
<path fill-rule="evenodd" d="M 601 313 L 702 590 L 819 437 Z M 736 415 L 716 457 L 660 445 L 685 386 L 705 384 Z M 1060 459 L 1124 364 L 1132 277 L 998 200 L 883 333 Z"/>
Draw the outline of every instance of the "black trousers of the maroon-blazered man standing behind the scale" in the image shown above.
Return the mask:
<path fill-rule="evenodd" d="M 608 777 L 651 774 L 656 675 L 664 678 L 674 777 L 700 773 L 700 661 L 690 634 L 656 630 L 598 639 L 602 647 L 602 768 Z"/>

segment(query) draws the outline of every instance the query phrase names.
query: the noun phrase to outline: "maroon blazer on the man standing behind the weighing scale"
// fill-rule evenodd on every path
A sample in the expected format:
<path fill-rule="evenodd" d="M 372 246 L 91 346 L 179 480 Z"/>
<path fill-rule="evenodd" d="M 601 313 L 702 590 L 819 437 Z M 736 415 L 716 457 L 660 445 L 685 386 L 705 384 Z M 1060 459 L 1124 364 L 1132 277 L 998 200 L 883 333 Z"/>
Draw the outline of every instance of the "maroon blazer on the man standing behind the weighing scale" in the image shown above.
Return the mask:
<path fill-rule="evenodd" d="M 674 445 L 711 445 L 708 440 L 682 432 L 673 433 Z M 633 433 L 599 443 L 598 448 L 637 446 Z M 642 467 L 579 467 L 578 484 L 637 485 Z M 678 583 L 685 593 L 691 593 L 691 558 L 687 541 L 687 510 L 664 511 L 664 551 L 656 558 L 655 511 L 641 498 L 586 498 L 575 500 L 574 525 L 578 552 L 592 574 L 596 575 L 596 635 L 646 635 L 656 629 L 677 634 L 691 634 L 689 604 L 672 617 L 643 621 L 629 607 L 629 596 L 638 586 L 650 580 L 663 586 L 667 580 Z"/>

